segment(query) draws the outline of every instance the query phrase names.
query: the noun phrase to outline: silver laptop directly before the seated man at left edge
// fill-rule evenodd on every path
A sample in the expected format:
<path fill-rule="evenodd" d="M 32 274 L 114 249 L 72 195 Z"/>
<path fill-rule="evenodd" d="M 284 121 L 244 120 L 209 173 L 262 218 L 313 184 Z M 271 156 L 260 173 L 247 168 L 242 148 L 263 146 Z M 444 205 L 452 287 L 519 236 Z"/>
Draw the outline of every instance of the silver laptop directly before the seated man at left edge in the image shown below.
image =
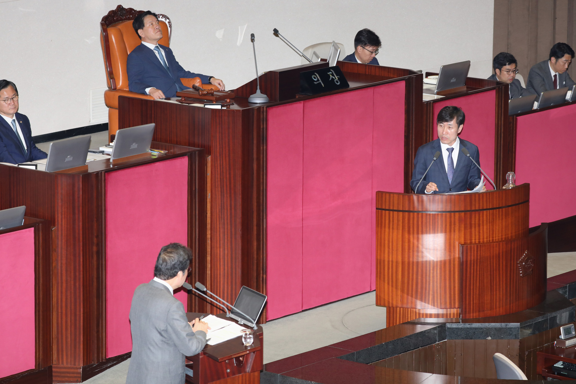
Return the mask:
<path fill-rule="evenodd" d="M 55 172 L 85 165 L 90 140 L 92 136 L 71 137 L 51 142 L 48 148 L 46 171 Z"/>

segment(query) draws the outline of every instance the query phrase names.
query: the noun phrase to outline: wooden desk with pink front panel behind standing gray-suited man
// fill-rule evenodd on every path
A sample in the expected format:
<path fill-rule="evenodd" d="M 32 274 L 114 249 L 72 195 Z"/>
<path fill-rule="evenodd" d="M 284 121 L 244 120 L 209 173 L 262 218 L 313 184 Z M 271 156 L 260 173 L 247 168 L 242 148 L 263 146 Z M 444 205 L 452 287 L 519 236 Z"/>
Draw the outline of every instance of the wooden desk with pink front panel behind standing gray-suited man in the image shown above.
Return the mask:
<path fill-rule="evenodd" d="M 153 278 L 161 246 L 205 253 L 204 152 L 168 150 L 59 172 L 0 164 L 0 209 L 26 205 L 52 230 L 52 374 L 79 382 L 130 355 L 128 313 L 135 287 Z M 198 224 L 200 223 L 200 224 Z M 200 274 L 190 277 L 194 284 Z M 186 293 L 176 293 L 184 306 Z"/>

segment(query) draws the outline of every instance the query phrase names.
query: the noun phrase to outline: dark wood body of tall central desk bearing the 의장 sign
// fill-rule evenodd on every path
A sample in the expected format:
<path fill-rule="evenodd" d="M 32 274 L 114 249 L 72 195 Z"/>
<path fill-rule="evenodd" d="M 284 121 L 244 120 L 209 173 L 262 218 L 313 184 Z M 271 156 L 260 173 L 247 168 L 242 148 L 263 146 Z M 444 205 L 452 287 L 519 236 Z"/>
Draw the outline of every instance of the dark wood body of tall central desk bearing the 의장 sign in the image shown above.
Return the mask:
<path fill-rule="evenodd" d="M 340 63 L 339 63 L 340 64 Z M 246 97 L 256 91 L 255 80 L 234 90 L 234 104 L 222 110 L 199 108 L 170 101 L 143 100 L 119 97 L 119 128 L 156 123 L 154 140 L 177 145 L 187 145 L 206 150 L 210 184 L 207 201 L 210 206 L 207 217 L 206 258 L 200 260 L 206 266 L 206 283 L 211 291 L 223 299 L 234 300 L 242 285 L 266 293 L 266 183 L 267 183 L 267 108 L 285 103 L 314 99 L 335 93 L 386 84 L 406 82 L 406 121 L 404 141 L 405 157 L 415 153 L 411 135 L 419 122 L 417 108 L 420 95 L 414 89 L 422 86 L 422 74 L 410 70 L 375 67 L 365 73 L 365 65 L 344 63 L 344 74 L 350 89 L 342 89 L 321 95 L 296 95 L 298 91 L 282 85 L 281 76 L 298 76 L 300 71 L 314 65 L 297 66 L 270 71 L 260 77 L 262 92 L 268 97 L 278 95 L 278 101 L 264 105 L 249 104 Z M 268 77 L 266 77 L 268 76 Z M 394 77 L 401 76 L 401 77 Z M 270 80 L 272 77 L 272 80 Z M 277 80 L 277 81 L 276 81 Z M 291 81 L 291 80 L 290 80 Z M 265 85 L 271 82 L 270 85 Z M 282 89 L 291 89 L 289 95 L 274 90 L 275 84 Z M 266 86 L 270 86 L 270 91 Z M 276 92 L 276 93 L 274 93 Z M 286 91 L 288 92 L 288 91 Z M 421 92 L 421 91 L 420 91 Z M 285 95 L 285 96 L 282 96 Z M 288 99 L 283 99 L 288 97 Z M 271 99 L 272 100 L 272 99 Z M 404 189 L 410 190 L 412 168 L 405 167 Z M 209 304 L 200 304 L 198 310 L 218 311 Z M 260 322 L 266 318 L 264 313 Z"/>

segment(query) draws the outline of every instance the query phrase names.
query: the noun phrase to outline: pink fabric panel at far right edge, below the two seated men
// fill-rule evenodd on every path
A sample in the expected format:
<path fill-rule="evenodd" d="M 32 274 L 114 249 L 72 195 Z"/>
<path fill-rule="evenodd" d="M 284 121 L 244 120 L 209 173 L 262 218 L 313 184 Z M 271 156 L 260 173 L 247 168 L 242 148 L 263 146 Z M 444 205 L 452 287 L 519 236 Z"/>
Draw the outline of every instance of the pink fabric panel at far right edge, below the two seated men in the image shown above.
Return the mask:
<path fill-rule="evenodd" d="M 570 105 L 517 118 L 516 185 L 530 183 L 530 227 L 576 214 L 576 161 L 559 146 L 576 142 L 575 117 Z"/>

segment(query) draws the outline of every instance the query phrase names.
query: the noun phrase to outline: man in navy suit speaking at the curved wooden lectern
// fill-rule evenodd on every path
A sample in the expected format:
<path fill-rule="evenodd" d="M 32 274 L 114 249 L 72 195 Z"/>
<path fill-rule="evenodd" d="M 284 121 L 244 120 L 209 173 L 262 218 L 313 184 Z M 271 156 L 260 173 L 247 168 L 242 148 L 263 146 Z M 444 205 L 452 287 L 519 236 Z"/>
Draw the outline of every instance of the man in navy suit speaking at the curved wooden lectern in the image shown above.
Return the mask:
<path fill-rule="evenodd" d="M 470 157 L 480 164 L 478 146 L 458 138 L 464 127 L 464 111 L 461 108 L 449 106 L 438 112 L 436 125 L 438 138 L 418 148 L 414 159 L 414 172 L 410 186 L 416 188 L 422 176 L 426 174 L 415 193 L 454 193 L 474 189 L 480 184 L 480 170 L 464 155 L 468 150 Z M 435 154 L 441 155 L 433 160 Z M 431 164 L 430 170 L 426 169 Z M 483 191 L 486 187 L 482 188 Z"/>

